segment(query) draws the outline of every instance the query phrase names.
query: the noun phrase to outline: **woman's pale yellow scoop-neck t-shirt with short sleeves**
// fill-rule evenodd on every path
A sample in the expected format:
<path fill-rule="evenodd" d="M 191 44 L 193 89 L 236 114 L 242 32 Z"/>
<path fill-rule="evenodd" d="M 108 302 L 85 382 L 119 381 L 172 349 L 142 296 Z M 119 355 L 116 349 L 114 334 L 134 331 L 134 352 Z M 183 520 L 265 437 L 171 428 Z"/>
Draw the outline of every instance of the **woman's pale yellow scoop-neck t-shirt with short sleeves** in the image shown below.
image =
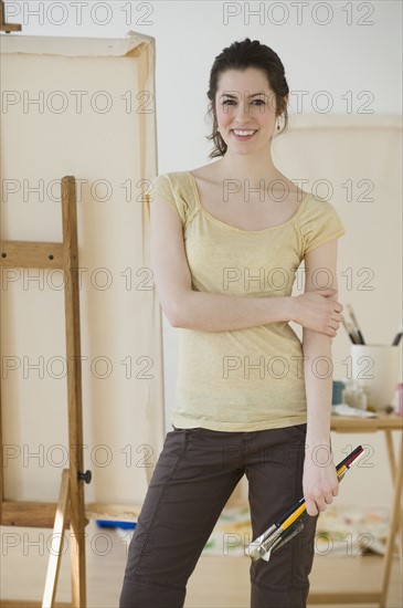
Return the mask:
<path fill-rule="evenodd" d="M 305 253 L 346 232 L 332 205 L 311 193 L 290 220 L 264 230 L 212 217 L 190 171 L 157 176 L 147 203 L 152 196 L 181 219 L 192 290 L 200 292 L 289 296 Z M 177 331 L 174 427 L 256 431 L 307 421 L 301 342 L 288 323 Z"/>

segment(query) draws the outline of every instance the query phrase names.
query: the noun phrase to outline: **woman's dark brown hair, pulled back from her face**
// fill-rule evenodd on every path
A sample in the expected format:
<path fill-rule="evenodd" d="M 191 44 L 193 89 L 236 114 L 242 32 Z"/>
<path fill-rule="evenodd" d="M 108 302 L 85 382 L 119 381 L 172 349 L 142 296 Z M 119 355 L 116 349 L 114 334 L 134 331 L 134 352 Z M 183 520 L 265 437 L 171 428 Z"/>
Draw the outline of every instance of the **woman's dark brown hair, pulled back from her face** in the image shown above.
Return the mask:
<path fill-rule="evenodd" d="M 242 42 L 233 42 L 231 46 L 226 46 L 220 55 L 215 56 L 215 61 L 210 72 L 210 82 L 208 97 L 210 99 L 208 115 L 213 117 L 213 130 L 208 135 L 208 139 L 214 141 L 214 148 L 209 155 L 209 158 L 224 156 L 226 153 L 226 144 L 218 130 L 218 119 L 215 114 L 215 95 L 220 75 L 226 70 L 246 70 L 247 67 L 256 67 L 265 72 L 268 84 L 275 94 L 276 99 L 276 116 L 284 115 L 283 133 L 288 125 L 287 101 L 288 84 L 285 77 L 284 65 L 279 56 L 266 46 L 261 44 L 258 40 L 251 41 L 245 38 Z"/>

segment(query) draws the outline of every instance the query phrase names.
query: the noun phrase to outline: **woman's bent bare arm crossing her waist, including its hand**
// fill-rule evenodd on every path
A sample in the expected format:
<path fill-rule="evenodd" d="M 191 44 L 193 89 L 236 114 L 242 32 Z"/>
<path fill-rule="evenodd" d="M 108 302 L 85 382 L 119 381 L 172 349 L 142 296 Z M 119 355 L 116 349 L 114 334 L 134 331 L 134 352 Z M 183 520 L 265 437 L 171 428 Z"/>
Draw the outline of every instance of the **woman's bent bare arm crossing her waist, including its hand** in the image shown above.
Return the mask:
<path fill-rule="evenodd" d="M 316 332 L 336 336 L 341 321 L 339 313 L 343 307 L 328 300 L 327 296 L 336 293 L 333 290 L 272 297 L 193 291 L 179 216 L 155 196 L 150 205 L 150 219 L 151 263 L 157 294 L 173 327 L 232 332 L 294 321 Z M 329 327 L 329 323 L 333 328 Z"/>

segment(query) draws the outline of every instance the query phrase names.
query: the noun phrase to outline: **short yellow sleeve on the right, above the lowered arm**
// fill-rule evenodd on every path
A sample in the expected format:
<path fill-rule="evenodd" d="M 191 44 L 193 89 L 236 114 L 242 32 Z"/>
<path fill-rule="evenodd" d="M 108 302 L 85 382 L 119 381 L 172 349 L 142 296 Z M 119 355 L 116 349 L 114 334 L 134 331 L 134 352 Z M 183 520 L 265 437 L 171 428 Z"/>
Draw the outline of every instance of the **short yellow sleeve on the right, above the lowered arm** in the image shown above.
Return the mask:
<path fill-rule="evenodd" d="M 308 251 L 342 237 L 344 226 L 331 202 L 311 195 L 299 216 L 303 256 Z"/>

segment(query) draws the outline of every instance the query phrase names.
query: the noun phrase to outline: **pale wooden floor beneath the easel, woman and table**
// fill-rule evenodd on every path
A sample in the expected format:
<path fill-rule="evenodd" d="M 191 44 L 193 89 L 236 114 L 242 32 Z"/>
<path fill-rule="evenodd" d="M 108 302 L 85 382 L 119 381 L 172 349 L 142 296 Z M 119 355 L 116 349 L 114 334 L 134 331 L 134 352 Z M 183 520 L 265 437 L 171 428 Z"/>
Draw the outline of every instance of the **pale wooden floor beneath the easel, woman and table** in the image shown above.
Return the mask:
<path fill-rule="evenodd" d="M 100 528 L 96 522 L 89 522 L 85 530 L 87 607 L 117 608 L 126 564 L 126 543 L 116 530 Z M 2 599 L 42 598 L 51 533 L 47 530 L 1 526 Z M 68 538 L 67 532 L 67 543 Z M 66 545 L 65 549 L 59 579 L 59 601 L 71 600 L 70 546 Z M 250 564 L 246 556 L 202 556 L 188 583 L 185 608 L 250 608 Z M 343 590 L 377 590 L 381 572 L 382 559 L 378 556 L 316 556 L 310 577 L 311 590 L 335 589 L 333 580 L 338 580 Z M 332 606 L 337 608 L 340 605 Z M 344 608 L 347 606 L 352 607 L 351 604 L 343 605 Z M 365 605 L 354 606 L 363 608 Z M 402 569 L 399 560 L 394 559 L 390 594 L 384 608 L 402 607 Z"/>

